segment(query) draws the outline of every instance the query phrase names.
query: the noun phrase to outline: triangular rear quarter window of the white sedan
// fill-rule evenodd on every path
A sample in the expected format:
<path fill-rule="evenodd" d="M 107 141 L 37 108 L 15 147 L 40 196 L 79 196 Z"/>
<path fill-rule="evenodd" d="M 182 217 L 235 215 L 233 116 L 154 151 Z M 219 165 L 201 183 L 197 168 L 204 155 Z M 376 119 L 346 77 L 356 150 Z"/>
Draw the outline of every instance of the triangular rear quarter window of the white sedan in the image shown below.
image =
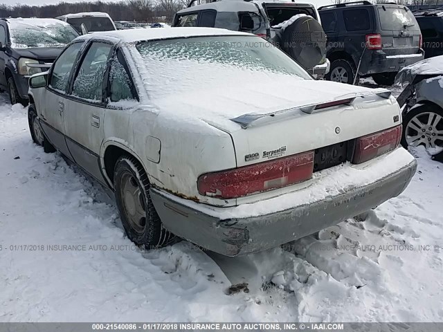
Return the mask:
<path fill-rule="evenodd" d="M 120 50 L 112 60 L 111 70 L 109 71 L 109 99 L 111 102 L 120 100 L 136 100 L 136 93 L 132 81 L 129 78 L 125 59 Z"/>

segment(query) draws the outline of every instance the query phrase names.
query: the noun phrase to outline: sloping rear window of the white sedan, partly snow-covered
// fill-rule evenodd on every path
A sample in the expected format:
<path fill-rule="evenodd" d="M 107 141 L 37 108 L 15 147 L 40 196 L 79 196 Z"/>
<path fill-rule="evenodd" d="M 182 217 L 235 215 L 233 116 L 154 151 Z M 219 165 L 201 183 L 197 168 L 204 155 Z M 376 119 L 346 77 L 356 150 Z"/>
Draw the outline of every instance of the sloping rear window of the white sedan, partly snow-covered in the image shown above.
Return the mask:
<path fill-rule="evenodd" d="M 255 36 L 164 39 L 140 42 L 136 50 L 147 69 L 152 98 L 223 91 L 226 86 L 258 91 L 269 82 L 284 85 L 294 79 L 311 79 L 288 55 Z"/>

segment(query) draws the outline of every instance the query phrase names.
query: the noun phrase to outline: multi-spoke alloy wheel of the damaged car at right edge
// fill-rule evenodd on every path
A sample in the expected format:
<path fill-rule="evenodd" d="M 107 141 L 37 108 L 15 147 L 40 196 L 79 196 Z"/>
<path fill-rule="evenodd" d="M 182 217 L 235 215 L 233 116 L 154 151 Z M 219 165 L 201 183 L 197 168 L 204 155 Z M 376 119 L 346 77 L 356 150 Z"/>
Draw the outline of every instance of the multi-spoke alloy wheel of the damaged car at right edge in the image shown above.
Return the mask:
<path fill-rule="evenodd" d="M 428 154 L 443 152 L 443 110 L 440 107 L 421 104 L 413 107 L 403 118 L 401 145 L 422 145 Z"/>

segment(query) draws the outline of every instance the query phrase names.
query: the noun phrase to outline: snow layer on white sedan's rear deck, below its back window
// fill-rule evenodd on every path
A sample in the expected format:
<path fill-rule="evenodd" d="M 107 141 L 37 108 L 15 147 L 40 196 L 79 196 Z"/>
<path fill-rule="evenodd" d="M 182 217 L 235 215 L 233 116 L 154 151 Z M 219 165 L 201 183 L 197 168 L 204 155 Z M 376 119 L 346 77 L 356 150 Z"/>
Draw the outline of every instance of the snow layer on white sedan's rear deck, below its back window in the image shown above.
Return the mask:
<path fill-rule="evenodd" d="M 136 63 L 150 102 L 163 115 L 204 120 L 228 131 L 239 129 L 230 119 L 246 113 L 271 113 L 373 90 L 236 64 L 157 59 L 152 53 Z"/>

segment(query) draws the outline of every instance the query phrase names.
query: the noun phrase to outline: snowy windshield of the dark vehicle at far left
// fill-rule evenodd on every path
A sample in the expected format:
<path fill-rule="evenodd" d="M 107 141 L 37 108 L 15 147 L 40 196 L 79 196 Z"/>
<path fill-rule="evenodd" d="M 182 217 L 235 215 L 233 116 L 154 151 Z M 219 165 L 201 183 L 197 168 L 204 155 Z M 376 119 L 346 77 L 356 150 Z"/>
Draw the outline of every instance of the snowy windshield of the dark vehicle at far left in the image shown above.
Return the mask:
<path fill-rule="evenodd" d="M 79 36 L 57 19 L 9 19 L 8 26 L 14 48 L 66 46 Z"/>

